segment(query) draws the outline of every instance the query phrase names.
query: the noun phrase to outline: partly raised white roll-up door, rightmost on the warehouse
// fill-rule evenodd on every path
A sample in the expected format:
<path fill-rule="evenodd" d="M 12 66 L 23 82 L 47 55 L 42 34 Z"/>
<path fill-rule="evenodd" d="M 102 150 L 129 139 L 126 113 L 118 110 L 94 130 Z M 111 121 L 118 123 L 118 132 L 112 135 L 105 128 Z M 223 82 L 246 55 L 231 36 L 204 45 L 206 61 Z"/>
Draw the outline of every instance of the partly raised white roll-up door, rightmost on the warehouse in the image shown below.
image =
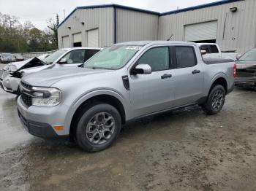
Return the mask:
<path fill-rule="evenodd" d="M 185 26 L 185 41 L 196 42 L 217 38 L 217 20 Z"/>

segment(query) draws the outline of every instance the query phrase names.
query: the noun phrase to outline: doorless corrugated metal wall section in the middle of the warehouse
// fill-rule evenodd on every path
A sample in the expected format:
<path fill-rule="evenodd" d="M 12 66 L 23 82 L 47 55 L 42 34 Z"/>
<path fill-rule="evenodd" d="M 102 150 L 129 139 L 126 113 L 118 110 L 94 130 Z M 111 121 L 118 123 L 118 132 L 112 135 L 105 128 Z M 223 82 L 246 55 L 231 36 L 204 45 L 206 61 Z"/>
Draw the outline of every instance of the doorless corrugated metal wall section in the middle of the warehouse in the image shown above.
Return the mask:
<path fill-rule="evenodd" d="M 116 9 L 117 42 L 157 40 L 158 15 Z"/>

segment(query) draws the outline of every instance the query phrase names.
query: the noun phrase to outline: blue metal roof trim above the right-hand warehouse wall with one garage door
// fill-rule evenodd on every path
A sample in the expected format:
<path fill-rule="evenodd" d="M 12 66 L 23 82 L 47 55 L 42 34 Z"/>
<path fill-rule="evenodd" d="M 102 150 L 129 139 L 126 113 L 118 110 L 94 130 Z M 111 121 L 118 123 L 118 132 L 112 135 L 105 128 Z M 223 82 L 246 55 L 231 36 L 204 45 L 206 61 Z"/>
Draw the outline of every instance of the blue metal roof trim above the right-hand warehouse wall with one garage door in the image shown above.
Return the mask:
<path fill-rule="evenodd" d="M 203 8 L 206 8 L 206 7 L 213 7 L 213 6 L 217 6 L 217 5 L 221 5 L 221 4 L 233 3 L 233 2 L 236 2 L 236 1 L 244 1 L 244 0 L 222 0 L 222 1 L 212 2 L 212 3 L 209 3 L 209 4 L 200 4 L 200 5 L 197 5 L 197 6 L 194 6 L 194 7 L 187 7 L 187 8 L 178 9 L 178 10 L 175 10 L 175 11 L 163 12 L 163 13 L 160 13 L 160 16 L 176 14 L 178 12 L 192 11 L 192 10 L 195 10 L 195 9 L 203 9 Z"/>

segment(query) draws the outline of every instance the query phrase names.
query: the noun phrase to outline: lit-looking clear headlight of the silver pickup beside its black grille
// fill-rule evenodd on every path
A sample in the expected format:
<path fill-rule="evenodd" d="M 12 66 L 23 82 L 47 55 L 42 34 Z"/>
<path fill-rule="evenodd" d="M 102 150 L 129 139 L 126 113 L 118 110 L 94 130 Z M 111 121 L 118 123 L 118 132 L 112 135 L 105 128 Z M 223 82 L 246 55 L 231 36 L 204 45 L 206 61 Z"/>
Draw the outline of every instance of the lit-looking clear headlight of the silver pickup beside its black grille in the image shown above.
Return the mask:
<path fill-rule="evenodd" d="M 32 87 L 33 106 L 56 106 L 61 102 L 61 90 L 55 87 Z"/>

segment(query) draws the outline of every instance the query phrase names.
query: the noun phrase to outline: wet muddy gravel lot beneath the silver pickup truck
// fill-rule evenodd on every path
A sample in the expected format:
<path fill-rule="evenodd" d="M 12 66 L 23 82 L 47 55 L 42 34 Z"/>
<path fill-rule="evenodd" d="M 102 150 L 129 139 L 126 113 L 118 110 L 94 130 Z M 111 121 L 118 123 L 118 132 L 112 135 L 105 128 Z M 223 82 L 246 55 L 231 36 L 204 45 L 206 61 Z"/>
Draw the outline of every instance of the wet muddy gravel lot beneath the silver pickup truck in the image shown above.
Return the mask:
<path fill-rule="evenodd" d="M 89 154 L 30 136 L 0 90 L 0 190 L 256 190 L 255 98 L 236 89 L 215 116 L 195 106 L 136 122 Z"/>

